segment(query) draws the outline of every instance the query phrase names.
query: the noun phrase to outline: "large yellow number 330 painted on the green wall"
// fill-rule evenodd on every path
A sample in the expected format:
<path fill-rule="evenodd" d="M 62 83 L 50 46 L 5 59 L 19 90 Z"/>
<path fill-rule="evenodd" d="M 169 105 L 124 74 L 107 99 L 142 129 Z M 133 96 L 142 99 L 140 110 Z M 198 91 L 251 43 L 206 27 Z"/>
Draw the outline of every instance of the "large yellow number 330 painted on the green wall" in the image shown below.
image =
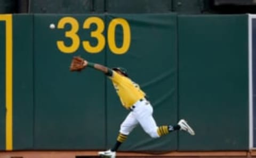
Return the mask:
<path fill-rule="evenodd" d="M 70 24 L 70 30 L 65 32 L 65 37 L 71 40 L 71 44 L 68 46 L 62 40 L 57 41 L 57 47 L 61 52 L 64 53 L 74 53 L 80 46 L 80 38 L 77 34 L 79 30 L 79 24 L 74 17 L 62 17 L 60 19 L 57 28 L 64 29 L 66 24 Z M 83 23 L 83 29 L 90 29 L 91 24 L 95 24 L 97 29 L 91 31 L 91 37 L 97 39 L 98 43 L 95 46 L 92 46 L 90 41 L 82 41 L 83 48 L 85 51 L 90 53 L 99 53 L 103 50 L 106 45 L 106 39 L 103 35 L 105 29 L 105 24 L 102 19 L 99 17 L 89 17 Z M 115 41 L 115 29 L 117 25 L 121 25 L 123 28 L 123 45 L 121 47 L 116 46 Z M 131 43 L 131 30 L 129 23 L 122 18 L 116 18 L 110 21 L 108 27 L 108 45 L 109 49 L 114 54 L 124 54 L 130 47 Z"/>

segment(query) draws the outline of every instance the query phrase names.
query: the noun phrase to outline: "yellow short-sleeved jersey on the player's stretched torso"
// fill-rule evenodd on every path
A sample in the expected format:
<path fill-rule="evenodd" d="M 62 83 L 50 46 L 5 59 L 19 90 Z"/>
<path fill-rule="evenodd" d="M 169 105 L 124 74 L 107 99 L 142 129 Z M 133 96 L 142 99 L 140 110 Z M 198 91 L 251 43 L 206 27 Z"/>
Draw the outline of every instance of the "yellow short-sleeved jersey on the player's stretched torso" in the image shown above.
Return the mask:
<path fill-rule="evenodd" d="M 145 97 L 145 93 L 140 86 L 134 83 L 130 78 L 122 76 L 113 71 L 113 75 L 109 76 L 115 90 L 126 109 L 129 109 L 135 102 Z"/>

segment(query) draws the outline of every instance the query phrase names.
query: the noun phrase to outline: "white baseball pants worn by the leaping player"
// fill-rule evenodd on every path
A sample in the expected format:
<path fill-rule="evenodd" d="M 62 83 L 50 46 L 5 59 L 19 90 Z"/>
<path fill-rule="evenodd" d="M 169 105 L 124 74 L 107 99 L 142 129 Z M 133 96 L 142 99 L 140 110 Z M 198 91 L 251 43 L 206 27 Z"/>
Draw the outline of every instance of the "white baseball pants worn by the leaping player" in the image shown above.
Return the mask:
<path fill-rule="evenodd" d="M 133 106 L 135 108 L 127 115 L 121 124 L 119 132 L 124 135 L 129 135 L 134 127 L 140 124 L 143 130 L 152 138 L 158 138 L 158 127 L 153 118 L 153 107 L 150 102 L 147 100 L 137 101 Z"/>

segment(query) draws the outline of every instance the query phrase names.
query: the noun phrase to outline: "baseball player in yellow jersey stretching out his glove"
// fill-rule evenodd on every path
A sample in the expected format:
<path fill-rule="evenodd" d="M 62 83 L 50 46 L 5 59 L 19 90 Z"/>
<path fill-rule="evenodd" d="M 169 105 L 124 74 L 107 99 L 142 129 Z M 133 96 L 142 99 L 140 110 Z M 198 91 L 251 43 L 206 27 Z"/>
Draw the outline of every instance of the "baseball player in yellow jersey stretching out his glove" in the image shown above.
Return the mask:
<path fill-rule="evenodd" d="M 134 83 L 126 69 L 121 67 L 108 68 L 100 64 L 90 63 L 81 57 L 74 57 L 70 71 L 81 71 L 85 67 L 91 67 L 103 72 L 112 81 L 117 95 L 123 107 L 130 111 L 129 115 L 122 122 L 116 144 L 107 151 L 99 152 L 100 156 L 114 158 L 119 146 L 125 141 L 127 136 L 138 124 L 152 138 L 158 138 L 169 134 L 174 130 L 187 131 L 190 135 L 195 135 L 194 130 L 188 125 L 186 120 L 181 119 L 177 125 L 157 126 L 153 118 L 153 107 L 147 100 L 145 92 L 140 89 L 140 86 Z"/>

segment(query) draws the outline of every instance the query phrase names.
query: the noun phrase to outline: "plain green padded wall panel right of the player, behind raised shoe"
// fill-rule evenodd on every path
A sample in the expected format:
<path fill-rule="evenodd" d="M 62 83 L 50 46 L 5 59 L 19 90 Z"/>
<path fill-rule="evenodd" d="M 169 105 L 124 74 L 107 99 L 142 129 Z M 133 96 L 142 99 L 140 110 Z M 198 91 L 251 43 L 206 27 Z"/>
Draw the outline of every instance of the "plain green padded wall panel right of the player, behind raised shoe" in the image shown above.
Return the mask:
<path fill-rule="evenodd" d="M 180 15 L 179 150 L 248 149 L 247 15 Z"/>

